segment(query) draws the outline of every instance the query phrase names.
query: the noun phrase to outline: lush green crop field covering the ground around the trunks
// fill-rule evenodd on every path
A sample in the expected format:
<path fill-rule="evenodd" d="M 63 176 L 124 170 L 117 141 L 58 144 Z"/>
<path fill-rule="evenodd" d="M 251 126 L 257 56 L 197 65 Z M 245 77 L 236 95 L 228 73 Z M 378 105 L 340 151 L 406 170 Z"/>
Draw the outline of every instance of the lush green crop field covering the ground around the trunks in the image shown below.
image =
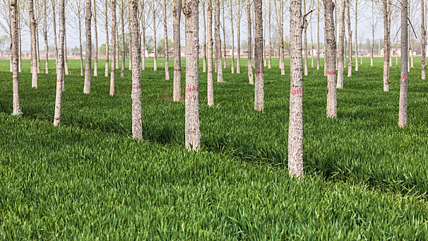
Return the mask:
<path fill-rule="evenodd" d="M 420 59 L 409 73 L 403 129 L 395 61 L 389 92 L 383 59 L 374 67 L 364 59 L 345 77 L 336 120 L 325 118 L 323 70 L 310 68 L 300 181 L 287 169 L 289 60 L 286 76 L 277 59 L 265 70 L 263 113 L 253 110 L 243 62 L 242 74 L 228 69 L 226 83 L 214 83 L 214 107 L 200 71 L 202 150 L 194 153 L 184 148 L 184 103 L 172 102 L 163 61 L 153 72 L 149 60 L 142 73 L 140 141 L 131 138 L 128 70 L 125 78 L 116 72 L 117 94 L 109 96 L 101 60 L 101 76 L 83 94 L 79 62 L 69 61 L 54 127 L 56 76 L 39 74 L 34 90 L 24 61 L 23 116 L 11 116 L 12 74 L 0 61 L 0 240 L 428 239 L 428 82 L 420 80 Z"/>

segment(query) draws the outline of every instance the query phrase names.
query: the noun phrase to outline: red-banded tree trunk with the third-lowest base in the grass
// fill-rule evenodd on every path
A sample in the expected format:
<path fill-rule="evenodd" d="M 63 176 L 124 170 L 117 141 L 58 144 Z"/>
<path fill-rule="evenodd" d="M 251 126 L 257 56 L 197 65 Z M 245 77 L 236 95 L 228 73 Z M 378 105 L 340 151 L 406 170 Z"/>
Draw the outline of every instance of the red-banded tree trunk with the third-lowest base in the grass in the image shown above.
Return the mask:
<path fill-rule="evenodd" d="M 138 41 L 138 0 L 129 0 L 129 39 L 132 50 L 132 137 L 142 139 L 140 41 Z"/>

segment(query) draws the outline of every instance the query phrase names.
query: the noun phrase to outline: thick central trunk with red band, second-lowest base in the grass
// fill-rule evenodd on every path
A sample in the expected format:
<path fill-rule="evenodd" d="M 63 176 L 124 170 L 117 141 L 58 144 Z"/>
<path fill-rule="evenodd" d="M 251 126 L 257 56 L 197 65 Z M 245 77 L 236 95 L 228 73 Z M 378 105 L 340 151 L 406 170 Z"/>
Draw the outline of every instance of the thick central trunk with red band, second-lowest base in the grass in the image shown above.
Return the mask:
<path fill-rule="evenodd" d="M 218 0 L 216 0 L 218 1 Z M 200 149 L 199 123 L 199 1 L 184 0 L 186 17 L 186 126 L 185 145 L 189 150 Z M 221 70 L 221 67 L 219 68 Z"/>

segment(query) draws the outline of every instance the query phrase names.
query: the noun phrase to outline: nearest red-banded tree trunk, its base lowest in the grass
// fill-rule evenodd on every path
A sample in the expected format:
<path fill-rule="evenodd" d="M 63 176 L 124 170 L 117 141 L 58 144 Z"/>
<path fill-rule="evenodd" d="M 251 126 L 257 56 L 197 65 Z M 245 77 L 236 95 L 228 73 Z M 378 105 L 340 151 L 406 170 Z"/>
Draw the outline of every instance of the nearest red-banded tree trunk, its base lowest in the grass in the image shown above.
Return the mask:
<path fill-rule="evenodd" d="M 303 66 L 304 19 L 301 0 L 290 2 L 290 122 L 288 124 L 288 170 L 292 177 L 303 177 Z"/>

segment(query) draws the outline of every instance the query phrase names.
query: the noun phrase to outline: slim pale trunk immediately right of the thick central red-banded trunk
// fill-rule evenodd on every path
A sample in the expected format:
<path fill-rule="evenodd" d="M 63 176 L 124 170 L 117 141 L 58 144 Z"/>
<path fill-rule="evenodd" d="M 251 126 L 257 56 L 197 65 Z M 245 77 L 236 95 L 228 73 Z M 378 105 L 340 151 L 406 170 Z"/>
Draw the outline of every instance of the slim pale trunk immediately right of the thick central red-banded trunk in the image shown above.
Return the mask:
<path fill-rule="evenodd" d="M 215 1 L 215 0 L 214 0 Z M 214 105 L 214 87 L 213 87 L 213 3 L 206 0 L 206 12 L 208 23 L 208 74 L 207 78 L 207 99 L 208 106 Z"/>

